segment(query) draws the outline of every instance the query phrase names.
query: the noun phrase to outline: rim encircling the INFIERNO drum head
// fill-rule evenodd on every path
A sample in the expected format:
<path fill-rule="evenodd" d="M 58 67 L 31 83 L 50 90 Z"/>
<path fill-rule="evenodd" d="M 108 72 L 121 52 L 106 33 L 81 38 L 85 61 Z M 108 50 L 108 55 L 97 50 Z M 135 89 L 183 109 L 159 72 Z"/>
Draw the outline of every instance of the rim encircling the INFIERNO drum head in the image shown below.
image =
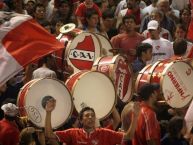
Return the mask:
<path fill-rule="evenodd" d="M 192 70 L 193 70 L 193 67 L 189 64 L 189 63 L 187 63 L 186 61 L 183 61 L 183 60 L 174 60 L 174 61 L 171 61 L 169 64 L 168 64 L 168 66 L 166 67 L 166 68 L 164 68 L 164 70 L 163 70 L 163 72 L 162 72 L 162 76 L 160 77 L 160 87 L 161 87 L 161 91 L 163 90 L 163 80 L 164 80 L 164 76 L 165 76 L 165 74 L 166 74 L 166 71 L 168 70 L 168 68 L 170 67 L 170 66 L 172 66 L 174 63 L 176 63 L 176 62 L 183 62 L 183 63 L 186 63 L 187 65 L 189 65 L 191 68 L 192 68 Z M 162 92 L 163 93 L 163 92 Z M 164 94 L 164 93 L 163 93 Z M 163 97 L 164 97 L 164 95 L 163 95 Z M 165 97 L 164 97 L 164 100 L 166 101 L 166 99 L 165 99 Z M 193 96 L 192 96 L 192 99 L 186 104 L 186 105 L 184 105 L 184 106 L 182 106 L 182 107 L 173 107 L 172 105 L 170 105 L 167 101 L 166 101 L 166 103 L 170 106 L 170 107 L 172 107 L 172 108 L 178 108 L 178 109 L 180 109 L 180 108 L 185 108 L 185 107 L 187 107 L 190 103 L 191 103 L 191 101 L 193 100 Z"/>

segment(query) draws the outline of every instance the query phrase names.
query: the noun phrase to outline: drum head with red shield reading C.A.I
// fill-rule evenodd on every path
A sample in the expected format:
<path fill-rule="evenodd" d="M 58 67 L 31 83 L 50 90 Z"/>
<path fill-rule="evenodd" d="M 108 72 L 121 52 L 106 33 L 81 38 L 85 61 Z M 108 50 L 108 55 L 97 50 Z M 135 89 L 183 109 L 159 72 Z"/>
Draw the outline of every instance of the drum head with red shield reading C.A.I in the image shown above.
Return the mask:
<path fill-rule="evenodd" d="M 100 40 L 95 34 L 83 32 L 76 36 L 67 50 L 67 62 L 74 69 L 90 70 L 101 54 Z"/>

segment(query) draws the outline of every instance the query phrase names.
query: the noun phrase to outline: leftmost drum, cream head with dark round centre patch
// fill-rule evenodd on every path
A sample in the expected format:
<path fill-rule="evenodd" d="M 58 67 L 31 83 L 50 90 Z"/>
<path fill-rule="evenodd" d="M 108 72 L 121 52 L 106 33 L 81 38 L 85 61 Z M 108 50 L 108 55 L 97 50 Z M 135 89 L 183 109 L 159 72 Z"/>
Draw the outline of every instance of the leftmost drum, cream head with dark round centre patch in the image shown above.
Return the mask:
<path fill-rule="evenodd" d="M 22 87 L 17 100 L 20 116 L 27 116 L 37 127 L 44 127 L 44 105 L 49 98 L 54 98 L 57 103 L 51 118 L 52 127 L 60 127 L 70 117 L 73 103 L 68 89 L 55 79 L 34 79 Z"/>

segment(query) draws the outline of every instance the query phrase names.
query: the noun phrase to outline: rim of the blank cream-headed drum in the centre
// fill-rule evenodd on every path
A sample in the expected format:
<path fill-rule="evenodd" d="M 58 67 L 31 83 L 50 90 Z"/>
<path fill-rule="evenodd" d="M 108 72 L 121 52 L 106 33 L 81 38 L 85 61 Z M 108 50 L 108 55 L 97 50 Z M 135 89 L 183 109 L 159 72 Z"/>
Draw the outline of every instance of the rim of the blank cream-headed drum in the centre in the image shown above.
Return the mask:
<path fill-rule="evenodd" d="M 74 94 L 74 90 L 75 90 L 75 86 L 76 86 L 76 84 L 77 84 L 77 82 L 79 81 L 79 79 L 80 79 L 80 77 L 83 77 L 84 75 L 86 75 L 86 74 L 88 74 L 88 73 L 92 73 L 92 72 L 95 72 L 95 73 L 99 73 L 99 74 L 102 74 L 102 75 L 105 75 L 105 74 L 103 74 L 103 73 L 101 73 L 101 72 L 99 72 L 99 71 L 90 71 L 90 70 L 83 70 L 83 71 L 80 71 L 80 72 L 77 72 L 77 73 L 81 73 L 78 77 L 77 77 L 77 79 L 74 81 L 74 83 L 73 83 L 73 87 L 72 87 L 72 91 L 71 91 L 71 95 L 72 95 L 72 97 L 73 97 L 73 94 Z M 75 75 L 75 74 L 74 74 Z M 113 81 L 107 76 L 107 75 L 105 75 L 110 81 L 111 81 L 111 84 L 112 84 L 112 86 L 113 86 L 113 88 L 114 88 L 114 104 L 113 104 L 113 106 L 112 106 L 112 108 L 110 109 L 110 111 L 109 111 L 109 113 L 107 114 L 107 115 L 105 115 L 104 117 L 102 117 L 102 118 L 98 118 L 100 121 L 102 121 L 102 120 L 104 120 L 105 118 L 107 118 L 112 112 L 113 112 L 113 109 L 114 109 L 114 107 L 115 107 L 115 105 L 117 104 L 117 96 L 116 96 L 116 90 L 115 90 L 115 86 L 114 86 L 114 84 L 113 84 Z M 73 76 L 72 76 L 73 77 Z M 70 80 L 70 78 L 69 78 L 69 80 Z M 67 81 L 66 81 L 67 82 Z M 74 98 L 74 97 L 73 97 Z M 74 101 L 74 100 L 73 100 Z M 74 107 L 75 107 L 75 109 L 76 109 L 76 106 L 75 106 L 75 104 L 74 104 Z M 95 108 L 94 108 L 95 109 Z M 78 114 L 79 114 L 79 111 L 76 109 L 76 111 L 78 112 Z M 95 110 L 96 111 L 96 110 Z"/>

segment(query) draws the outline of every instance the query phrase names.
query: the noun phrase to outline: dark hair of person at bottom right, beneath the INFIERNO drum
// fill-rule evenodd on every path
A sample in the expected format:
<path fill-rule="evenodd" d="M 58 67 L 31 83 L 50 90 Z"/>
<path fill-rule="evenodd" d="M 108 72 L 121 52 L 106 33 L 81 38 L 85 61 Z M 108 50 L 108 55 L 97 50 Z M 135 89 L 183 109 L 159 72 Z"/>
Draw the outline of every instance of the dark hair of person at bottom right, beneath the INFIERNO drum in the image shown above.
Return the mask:
<path fill-rule="evenodd" d="M 184 119 L 180 116 L 174 116 L 170 119 L 168 124 L 168 132 L 171 137 L 177 137 L 177 133 L 183 128 Z"/>

